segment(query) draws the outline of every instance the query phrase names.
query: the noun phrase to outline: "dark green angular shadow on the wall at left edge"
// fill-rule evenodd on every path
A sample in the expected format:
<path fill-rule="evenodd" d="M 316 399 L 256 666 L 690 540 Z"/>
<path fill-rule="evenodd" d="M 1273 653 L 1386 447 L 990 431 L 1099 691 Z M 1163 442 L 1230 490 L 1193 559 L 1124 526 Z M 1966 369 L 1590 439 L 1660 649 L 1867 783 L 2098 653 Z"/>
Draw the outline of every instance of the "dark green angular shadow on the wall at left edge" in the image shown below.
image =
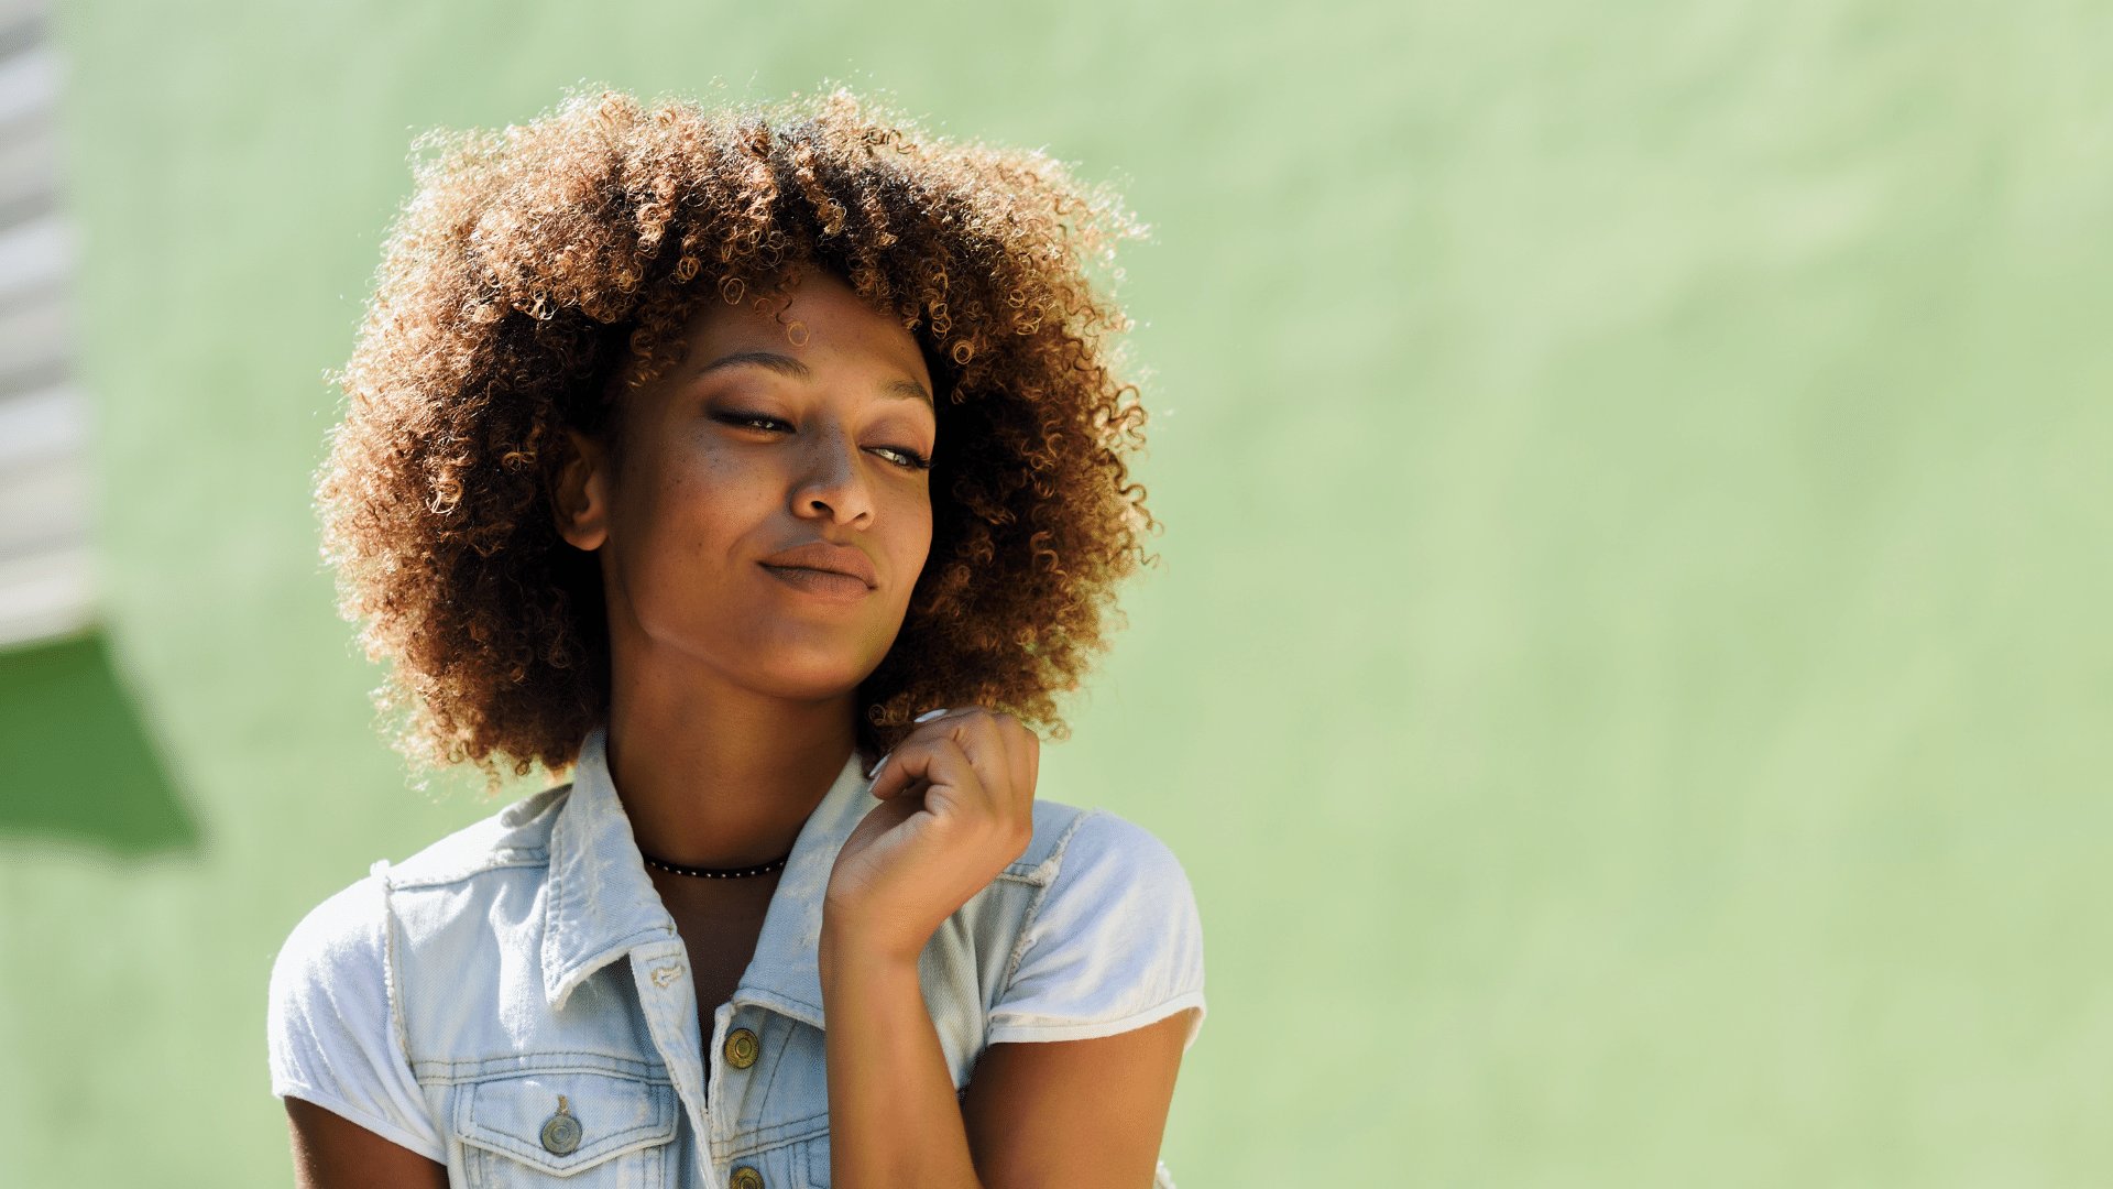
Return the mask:
<path fill-rule="evenodd" d="M 0 836 L 188 850 L 184 812 L 104 633 L 0 652 Z"/>

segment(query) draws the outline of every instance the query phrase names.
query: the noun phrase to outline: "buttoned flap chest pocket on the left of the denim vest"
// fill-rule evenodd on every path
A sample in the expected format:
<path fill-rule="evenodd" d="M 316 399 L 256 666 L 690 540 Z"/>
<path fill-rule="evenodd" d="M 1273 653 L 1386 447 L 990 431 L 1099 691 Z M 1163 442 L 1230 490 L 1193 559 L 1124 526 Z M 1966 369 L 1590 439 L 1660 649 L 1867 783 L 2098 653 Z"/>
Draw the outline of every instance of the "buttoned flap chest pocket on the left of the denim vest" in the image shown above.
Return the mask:
<path fill-rule="evenodd" d="M 668 1081 L 535 1071 L 465 1085 L 452 1126 L 473 1189 L 670 1189 L 678 1109 Z"/>

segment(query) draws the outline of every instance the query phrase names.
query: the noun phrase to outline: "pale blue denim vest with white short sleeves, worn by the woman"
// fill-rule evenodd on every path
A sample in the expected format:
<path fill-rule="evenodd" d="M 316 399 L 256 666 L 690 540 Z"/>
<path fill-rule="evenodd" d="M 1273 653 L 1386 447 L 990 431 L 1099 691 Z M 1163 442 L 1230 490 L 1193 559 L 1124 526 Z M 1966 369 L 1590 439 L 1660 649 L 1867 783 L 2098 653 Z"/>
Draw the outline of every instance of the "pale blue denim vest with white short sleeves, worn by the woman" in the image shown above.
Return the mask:
<path fill-rule="evenodd" d="M 604 745 L 594 730 L 571 785 L 376 863 L 302 920 L 273 971 L 275 1092 L 437 1136 L 440 1151 L 420 1147 L 452 1185 L 828 1185 L 816 948 L 837 853 L 879 804 L 858 755 L 801 827 L 706 1039 Z M 993 1041 L 1099 1037 L 1196 1007 L 1194 1043 L 1202 1024 L 1200 922 L 1175 857 L 1105 810 L 1035 800 L 1033 823 L 1027 853 L 919 958 L 957 1094 Z M 385 984 L 366 1016 L 344 986 L 361 980 Z M 361 1056 L 332 1056 L 347 1047 Z M 391 1075 L 395 1106 L 355 1087 Z M 1154 1185 L 1171 1189 L 1164 1164 Z"/>

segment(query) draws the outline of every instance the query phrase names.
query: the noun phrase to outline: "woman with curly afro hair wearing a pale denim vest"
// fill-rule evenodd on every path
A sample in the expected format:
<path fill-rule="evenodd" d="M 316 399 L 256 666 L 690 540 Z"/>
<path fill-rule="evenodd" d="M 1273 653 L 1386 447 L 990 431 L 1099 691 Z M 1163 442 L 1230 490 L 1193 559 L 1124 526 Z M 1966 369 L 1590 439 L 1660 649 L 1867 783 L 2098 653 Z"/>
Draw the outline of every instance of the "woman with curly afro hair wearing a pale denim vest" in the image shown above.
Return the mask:
<path fill-rule="evenodd" d="M 1190 884 L 1035 798 L 1156 527 L 1137 226 L 843 91 L 440 146 L 325 556 L 410 755 L 571 781 L 294 929 L 300 1183 L 1171 1185 Z"/>

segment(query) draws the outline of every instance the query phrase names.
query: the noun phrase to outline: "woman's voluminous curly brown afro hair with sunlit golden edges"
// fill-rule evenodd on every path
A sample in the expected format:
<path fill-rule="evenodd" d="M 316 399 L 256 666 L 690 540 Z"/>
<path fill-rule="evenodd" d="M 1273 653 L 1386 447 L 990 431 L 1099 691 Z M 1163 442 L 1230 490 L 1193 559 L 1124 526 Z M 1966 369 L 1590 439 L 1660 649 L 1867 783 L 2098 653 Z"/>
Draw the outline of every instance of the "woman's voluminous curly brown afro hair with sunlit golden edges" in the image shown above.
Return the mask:
<path fill-rule="evenodd" d="M 423 150 L 437 150 L 420 157 Z M 932 552 L 858 690 L 877 757 L 925 707 L 1054 738 L 1158 529 L 1126 457 L 1122 311 L 1088 269 L 1137 237 L 1042 152 L 932 138 L 837 89 L 775 106 L 575 91 L 503 131 L 414 142 L 317 474 L 323 559 L 412 762 L 562 772 L 606 721 L 598 561 L 558 535 L 566 427 L 678 362 L 699 303 L 782 296 L 801 267 L 913 332 L 938 387 Z M 1120 277 L 1120 271 L 1114 273 Z"/>

